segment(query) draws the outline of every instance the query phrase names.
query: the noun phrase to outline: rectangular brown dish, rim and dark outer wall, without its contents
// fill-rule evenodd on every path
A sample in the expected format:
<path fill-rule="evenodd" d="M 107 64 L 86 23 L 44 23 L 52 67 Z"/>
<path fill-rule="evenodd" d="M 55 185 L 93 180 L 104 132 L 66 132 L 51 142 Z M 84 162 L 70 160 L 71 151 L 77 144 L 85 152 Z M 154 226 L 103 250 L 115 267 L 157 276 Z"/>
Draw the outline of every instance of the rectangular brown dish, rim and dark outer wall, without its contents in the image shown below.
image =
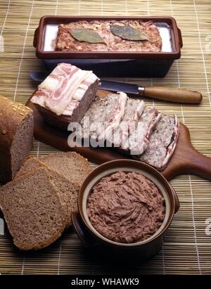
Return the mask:
<path fill-rule="evenodd" d="M 172 51 L 165 52 L 100 52 L 100 51 L 46 51 L 44 41 L 47 25 L 67 24 L 79 20 L 141 20 L 165 23 L 170 30 Z M 175 59 L 181 56 L 181 31 L 172 17 L 124 17 L 124 16 L 43 16 L 34 32 L 34 47 L 38 58 L 52 70 L 58 63 L 66 62 L 85 70 L 94 70 L 98 76 L 116 77 L 164 77 Z"/>

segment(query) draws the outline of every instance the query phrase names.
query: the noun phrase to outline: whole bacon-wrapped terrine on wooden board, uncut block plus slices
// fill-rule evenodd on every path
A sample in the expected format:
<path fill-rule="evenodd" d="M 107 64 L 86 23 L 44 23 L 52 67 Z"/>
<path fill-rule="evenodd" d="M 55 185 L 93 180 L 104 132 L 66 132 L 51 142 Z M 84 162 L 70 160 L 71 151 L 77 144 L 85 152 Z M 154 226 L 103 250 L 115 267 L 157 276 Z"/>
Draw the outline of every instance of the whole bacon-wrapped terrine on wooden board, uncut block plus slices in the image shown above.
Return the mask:
<path fill-rule="evenodd" d="M 71 122 L 80 124 L 75 134 L 82 143 L 88 139 L 90 146 L 94 141 L 94 147 L 112 147 L 165 169 L 177 145 L 177 116 L 163 115 L 121 91 L 100 98 L 98 87 L 100 79 L 93 72 L 60 63 L 31 101 L 44 120 L 59 129 L 67 131 Z"/>

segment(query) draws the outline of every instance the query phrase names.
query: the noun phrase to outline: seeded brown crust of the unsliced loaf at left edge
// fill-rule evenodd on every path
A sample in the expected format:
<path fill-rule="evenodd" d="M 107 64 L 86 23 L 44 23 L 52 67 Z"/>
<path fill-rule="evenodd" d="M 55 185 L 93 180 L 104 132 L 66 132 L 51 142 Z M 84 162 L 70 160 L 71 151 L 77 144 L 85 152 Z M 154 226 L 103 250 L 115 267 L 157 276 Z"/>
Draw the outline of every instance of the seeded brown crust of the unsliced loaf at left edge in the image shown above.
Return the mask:
<path fill-rule="evenodd" d="M 14 103 L 4 96 L 0 96 L 0 183 L 11 181 L 15 176 L 14 165 L 12 164 L 11 148 L 15 133 L 23 125 L 27 117 L 32 119 L 30 143 L 27 151 L 23 152 L 23 160 L 32 148 L 33 139 L 33 116 L 32 110 L 21 103 Z"/>

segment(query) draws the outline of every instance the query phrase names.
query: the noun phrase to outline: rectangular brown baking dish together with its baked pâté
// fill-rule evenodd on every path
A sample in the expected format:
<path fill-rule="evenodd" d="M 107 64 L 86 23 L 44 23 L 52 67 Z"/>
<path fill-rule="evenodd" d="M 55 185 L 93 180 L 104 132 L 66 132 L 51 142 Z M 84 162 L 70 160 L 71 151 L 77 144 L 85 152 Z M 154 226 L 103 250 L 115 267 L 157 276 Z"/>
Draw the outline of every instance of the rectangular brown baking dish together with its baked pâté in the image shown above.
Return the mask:
<path fill-rule="evenodd" d="M 94 27 L 96 30 L 89 26 L 92 23 L 98 26 Z M 110 25 L 102 29 L 101 23 Z M 130 26 L 131 30 L 141 27 L 132 35 L 145 34 L 148 39 L 124 39 L 125 34 L 120 37 L 111 32 L 112 25 L 116 25 L 117 30 L 121 25 Z M 83 41 L 79 37 L 87 38 L 87 34 L 77 31 L 78 40 L 70 31 L 75 29 L 96 32 L 101 42 L 90 43 L 89 37 Z M 126 30 L 128 32 L 128 28 Z M 172 17 L 115 15 L 43 16 L 34 32 L 33 44 L 37 57 L 49 71 L 63 61 L 92 70 L 98 77 L 165 77 L 174 60 L 181 57 L 183 45 L 181 31 Z"/>

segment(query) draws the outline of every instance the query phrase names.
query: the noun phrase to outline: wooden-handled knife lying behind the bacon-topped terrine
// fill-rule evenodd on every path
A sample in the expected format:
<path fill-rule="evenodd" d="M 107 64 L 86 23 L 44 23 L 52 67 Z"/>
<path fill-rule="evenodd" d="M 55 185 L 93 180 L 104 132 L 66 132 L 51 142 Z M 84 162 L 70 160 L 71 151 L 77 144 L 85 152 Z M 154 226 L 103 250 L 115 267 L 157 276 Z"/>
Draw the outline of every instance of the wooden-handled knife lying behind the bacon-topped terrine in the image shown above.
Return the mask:
<path fill-rule="evenodd" d="M 48 75 L 44 72 L 30 72 L 30 77 L 37 82 L 42 82 L 47 76 Z M 202 94 L 198 91 L 165 86 L 139 86 L 137 84 L 129 84 L 126 82 L 101 80 L 99 89 L 122 91 L 126 94 L 134 94 L 135 96 L 149 96 L 151 98 L 174 103 L 200 103 L 203 100 Z"/>

